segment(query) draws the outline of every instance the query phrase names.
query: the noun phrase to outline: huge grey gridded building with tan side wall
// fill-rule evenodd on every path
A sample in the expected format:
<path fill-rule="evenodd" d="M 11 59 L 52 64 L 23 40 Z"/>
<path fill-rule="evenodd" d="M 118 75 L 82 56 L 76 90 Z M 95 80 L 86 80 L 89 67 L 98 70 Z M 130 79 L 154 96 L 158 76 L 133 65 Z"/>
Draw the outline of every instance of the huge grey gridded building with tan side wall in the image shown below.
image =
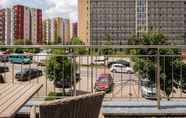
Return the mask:
<path fill-rule="evenodd" d="M 79 36 L 85 43 L 127 44 L 132 34 L 164 33 L 186 43 L 186 0 L 79 0 Z"/>

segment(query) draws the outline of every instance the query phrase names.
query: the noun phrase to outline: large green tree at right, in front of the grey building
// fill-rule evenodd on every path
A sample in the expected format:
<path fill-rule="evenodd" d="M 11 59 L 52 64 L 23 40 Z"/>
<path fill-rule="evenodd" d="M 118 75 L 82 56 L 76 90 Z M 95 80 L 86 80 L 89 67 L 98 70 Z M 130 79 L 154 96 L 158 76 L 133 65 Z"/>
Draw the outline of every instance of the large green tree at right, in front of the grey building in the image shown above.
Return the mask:
<path fill-rule="evenodd" d="M 169 45 L 167 37 L 160 32 L 143 33 L 142 37 L 133 35 L 128 42 L 129 45 Z M 179 49 L 160 49 L 161 55 L 181 55 Z M 157 67 L 157 49 L 130 49 L 129 53 L 133 55 L 148 55 L 137 56 L 132 58 L 135 62 L 134 70 L 144 79 L 147 78 L 152 82 L 156 81 L 156 67 Z M 182 79 L 181 77 L 182 67 Z M 173 87 L 177 87 L 176 83 L 186 83 L 186 65 L 181 62 L 181 58 L 171 56 L 160 57 L 160 87 L 169 99 L 173 91 Z"/>

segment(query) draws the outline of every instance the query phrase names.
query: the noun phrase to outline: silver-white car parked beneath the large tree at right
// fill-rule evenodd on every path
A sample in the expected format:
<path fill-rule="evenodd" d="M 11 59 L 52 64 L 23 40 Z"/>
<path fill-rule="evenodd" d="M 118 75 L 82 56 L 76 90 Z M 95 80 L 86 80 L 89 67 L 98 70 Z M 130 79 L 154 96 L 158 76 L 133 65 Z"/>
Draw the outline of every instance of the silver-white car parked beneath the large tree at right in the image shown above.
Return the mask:
<path fill-rule="evenodd" d="M 156 99 L 156 87 L 153 82 L 147 79 L 140 81 L 141 95 L 147 99 Z"/>

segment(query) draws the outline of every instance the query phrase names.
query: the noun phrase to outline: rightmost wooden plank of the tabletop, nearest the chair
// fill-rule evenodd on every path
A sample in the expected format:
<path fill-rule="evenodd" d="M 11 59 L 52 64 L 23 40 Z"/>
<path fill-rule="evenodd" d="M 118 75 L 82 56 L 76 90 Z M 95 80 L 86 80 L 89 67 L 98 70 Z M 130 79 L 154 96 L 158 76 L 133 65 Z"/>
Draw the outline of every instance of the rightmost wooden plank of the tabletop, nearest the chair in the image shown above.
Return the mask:
<path fill-rule="evenodd" d="M 42 87 L 42 84 L 32 86 L 27 92 L 22 94 L 22 96 L 13 102 L 8 109 L 5 109 L 0 113 L 1 117 L 13 117 L 16 112 Z"/>

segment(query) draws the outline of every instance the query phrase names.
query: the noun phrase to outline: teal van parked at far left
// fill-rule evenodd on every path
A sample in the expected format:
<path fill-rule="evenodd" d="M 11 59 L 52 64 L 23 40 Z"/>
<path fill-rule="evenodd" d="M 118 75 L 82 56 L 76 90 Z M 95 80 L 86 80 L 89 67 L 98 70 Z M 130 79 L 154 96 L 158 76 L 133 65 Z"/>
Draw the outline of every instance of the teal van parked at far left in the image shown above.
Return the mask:
<path fill-rule="evenodd" d="M 16 64 L 31 64 L 32 57 L 28 55 L 12 54 L 9 56 L 9 61 Z"/>

